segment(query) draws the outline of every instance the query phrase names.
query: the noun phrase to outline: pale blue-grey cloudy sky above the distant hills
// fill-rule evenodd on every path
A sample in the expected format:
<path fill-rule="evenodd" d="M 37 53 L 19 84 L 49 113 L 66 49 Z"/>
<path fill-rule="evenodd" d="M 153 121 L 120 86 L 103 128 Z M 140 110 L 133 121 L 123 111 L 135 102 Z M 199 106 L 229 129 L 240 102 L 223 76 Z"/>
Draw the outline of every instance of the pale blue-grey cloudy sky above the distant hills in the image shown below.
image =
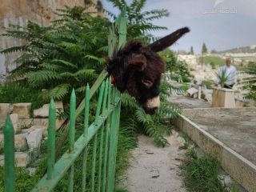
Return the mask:
<path fill-rule="evenodd" d="M 129 4 L 132 0 L 126 0 Z M 102 0 L 106 10 L 118 14 L 112 4 Z M 163 37 L 183 26 L 190 33 L 171 47 L 173 50 L 190 50 L 200 53 L 202 43 L 208 50 L 228 50 L 256 44 L 256 1 L 255 0 L 147 0 L 143 10 L 166 9 L 170 16 L 154 22 L 168 30 L 157 31 Z M 210 13 L 212 12 L 212 13 Z M 225 12 L 225 13 L 223 13 Z"/>

